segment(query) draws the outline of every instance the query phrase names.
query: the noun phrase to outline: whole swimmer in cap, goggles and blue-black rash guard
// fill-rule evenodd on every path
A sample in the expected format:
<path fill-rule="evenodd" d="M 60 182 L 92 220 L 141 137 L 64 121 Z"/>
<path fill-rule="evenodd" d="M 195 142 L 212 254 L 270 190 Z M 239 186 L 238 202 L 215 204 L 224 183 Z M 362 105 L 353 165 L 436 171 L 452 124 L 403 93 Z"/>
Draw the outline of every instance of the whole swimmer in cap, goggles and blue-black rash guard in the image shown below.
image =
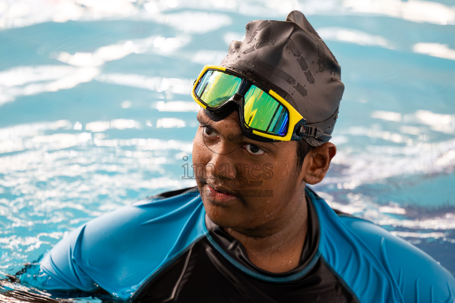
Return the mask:
<path fill-rule="evenodd" d="M 40 261 L 39 287 L 135 303 L 455 302 L 433 258 L 306 186 L 336 154 L 340 73 L 301 12 L 248 22 L 192 90 L 197 187 L 76 228 Z"/>

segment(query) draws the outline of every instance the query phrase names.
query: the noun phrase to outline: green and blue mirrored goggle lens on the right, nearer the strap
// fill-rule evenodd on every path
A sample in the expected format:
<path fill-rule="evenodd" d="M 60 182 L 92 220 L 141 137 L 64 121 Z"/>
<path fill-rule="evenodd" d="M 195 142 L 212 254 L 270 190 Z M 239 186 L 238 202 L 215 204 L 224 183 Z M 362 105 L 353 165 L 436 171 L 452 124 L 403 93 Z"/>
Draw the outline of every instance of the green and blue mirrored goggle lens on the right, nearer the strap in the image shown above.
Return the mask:
<path fill-rule="evenodd" d="M 272 96 L 251 85 L 245 94 L 243 117 L 249 127 L 283 136 L 288 130 L 288 111 Z"/>

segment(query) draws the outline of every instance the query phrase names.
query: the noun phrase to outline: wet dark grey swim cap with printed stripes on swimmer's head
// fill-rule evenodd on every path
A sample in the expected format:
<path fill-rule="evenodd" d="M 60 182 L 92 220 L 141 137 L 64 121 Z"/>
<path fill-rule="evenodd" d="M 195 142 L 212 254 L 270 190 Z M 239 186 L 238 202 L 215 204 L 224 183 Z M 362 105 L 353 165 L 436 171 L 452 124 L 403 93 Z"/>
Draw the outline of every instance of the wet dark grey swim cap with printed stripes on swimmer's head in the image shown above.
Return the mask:
<path fill-rule="evenodd" d="M 338 118 L 344 84 L 341 68 L 305 16 L 298 10 L 286 21 L 254 20 L 246 25 L 245 40 L 232 41 L 221 66 L 246 75 L 289 102 L 324 131 L 304 137 L 319 146 L 328 141 Z"/>

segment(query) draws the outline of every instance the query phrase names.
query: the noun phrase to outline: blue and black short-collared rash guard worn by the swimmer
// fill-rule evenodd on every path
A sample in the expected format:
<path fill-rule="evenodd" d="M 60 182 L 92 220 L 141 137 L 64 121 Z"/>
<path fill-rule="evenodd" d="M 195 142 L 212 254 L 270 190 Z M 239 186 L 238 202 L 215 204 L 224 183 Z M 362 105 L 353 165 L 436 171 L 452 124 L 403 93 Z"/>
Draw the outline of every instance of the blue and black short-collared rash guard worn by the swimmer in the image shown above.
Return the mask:
<path fill-rule="evenodd" d="M 40 261 L 47 290 L 100 288 L 130 302 L 454 303 L 433 258 L 306 189 L 299 266 L 270 273 L 208 219 L 197 189 L 165 193 L 76 228 Z"/>

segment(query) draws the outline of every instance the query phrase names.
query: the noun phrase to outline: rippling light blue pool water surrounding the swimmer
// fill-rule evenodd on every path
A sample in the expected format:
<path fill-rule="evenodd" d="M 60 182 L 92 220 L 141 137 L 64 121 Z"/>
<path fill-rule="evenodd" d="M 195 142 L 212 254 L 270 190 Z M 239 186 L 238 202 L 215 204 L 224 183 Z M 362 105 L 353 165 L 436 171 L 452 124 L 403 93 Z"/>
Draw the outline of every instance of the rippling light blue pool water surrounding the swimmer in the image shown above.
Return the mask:
<path fill-rule="evenodd" d="M 346 87 L 338 154 L 313 189 L 455 274 L 452 5 L 0 0 L 0 278 L 92 218 L 193 186 L 182 165 L 198 125 L 194 79 L 249 20 L 293 9 L 337 57 Z"/>

